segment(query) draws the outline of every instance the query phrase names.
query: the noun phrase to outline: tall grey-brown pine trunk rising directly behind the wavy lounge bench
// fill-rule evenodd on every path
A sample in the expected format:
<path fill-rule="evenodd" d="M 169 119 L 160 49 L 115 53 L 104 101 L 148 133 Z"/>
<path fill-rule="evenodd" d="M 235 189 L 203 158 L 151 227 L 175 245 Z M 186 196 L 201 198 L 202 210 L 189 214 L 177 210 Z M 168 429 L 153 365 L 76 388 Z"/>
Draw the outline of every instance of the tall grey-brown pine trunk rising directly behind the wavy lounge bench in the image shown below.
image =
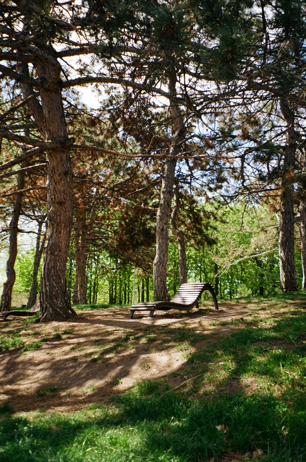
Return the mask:
<path fill-rule="evenodd" d="M 167 262 L 168 262 L 168 227 L 171 213 L 171 200 L 174 185 L 176 158 L 180 152 L 181 142 L 185 139 L 185 125 L 180 114 L 180 107 L 176 100 L 176 71 L 173 62 L 169 59 L 168 90 L 170 97 L 170 114 L 173 120 L 173 137 L 169 149 L 169 158 L 165 162 L 162 176 L 160 202 L 156 215 L 156 256 L 153 261 L 154 300 L 169 300 L 167 289 Z"/>

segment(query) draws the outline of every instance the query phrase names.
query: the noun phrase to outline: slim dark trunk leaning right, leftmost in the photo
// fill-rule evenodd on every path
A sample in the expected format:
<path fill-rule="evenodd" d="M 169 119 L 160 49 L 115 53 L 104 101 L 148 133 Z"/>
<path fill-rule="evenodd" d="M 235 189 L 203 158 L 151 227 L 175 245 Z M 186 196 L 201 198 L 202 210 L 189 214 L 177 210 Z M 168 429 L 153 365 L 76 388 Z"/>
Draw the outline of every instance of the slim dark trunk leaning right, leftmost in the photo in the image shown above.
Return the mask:
<path fill-rule="evenodd" d="M 21 164 L 21 167 L 26 166 L 26 161 Z M 18 175 L 18 184 L 17 189 L 24 188 L 24 177 L 25 172 L 21 172 Z M 12 303 L 12 290 L 14 286 L 14 282 L 16 279 L 16 274 L 14 270 L 14 265 L 17 256 L 17 235 L 18 235 L 18 221 L 20 216 L 21 210 L 21 202 L 22 202 L 22 193 L 16 194 L 12 219 L 10 222 L 10 237 L 9 237 L 9 251 L 8 251 L 8 259 L 6 261 L 6 281 L 3 284 L 3 291 L 1 296 L 1 305 L 0 311 L 9 311 L 11 309 Z"/>

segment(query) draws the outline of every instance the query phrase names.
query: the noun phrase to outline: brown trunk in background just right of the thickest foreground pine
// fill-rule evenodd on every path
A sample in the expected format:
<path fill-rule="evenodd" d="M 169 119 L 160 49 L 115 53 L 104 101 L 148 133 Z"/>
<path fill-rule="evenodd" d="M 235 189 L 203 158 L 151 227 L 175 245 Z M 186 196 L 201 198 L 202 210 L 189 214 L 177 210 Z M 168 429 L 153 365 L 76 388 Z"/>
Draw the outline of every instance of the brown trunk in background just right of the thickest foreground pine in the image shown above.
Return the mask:
<path fill-rule="evenodd" d="M 73 304 L 87 304 L 86 297 L 86 208 L 81 203 L 75 218 L 74 227 L 74 249 L 76 271 L 74 278 L 74 288 L 72 303 Z"/>

